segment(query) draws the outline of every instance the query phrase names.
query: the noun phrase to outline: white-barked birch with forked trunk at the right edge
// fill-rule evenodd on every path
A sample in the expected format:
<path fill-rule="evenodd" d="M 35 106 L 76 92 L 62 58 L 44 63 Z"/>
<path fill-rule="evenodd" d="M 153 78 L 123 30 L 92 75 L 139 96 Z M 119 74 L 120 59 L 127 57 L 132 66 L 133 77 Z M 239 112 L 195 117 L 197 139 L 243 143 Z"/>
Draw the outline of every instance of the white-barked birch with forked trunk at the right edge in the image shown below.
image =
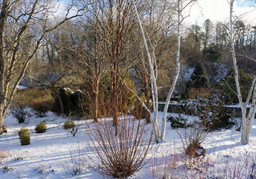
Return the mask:
<path fill-rule="evenodd" d="M 241 106 L 242 112 L 242 136 L 241 143 L 243 145 L 249 144 L 249 137 L 252 131 L 252 125 L 254 123 L 254 117 L 256 113 L 256 75 L 254 76 L 254 80 L 252 81 L 252 85 L 250 86 L 250 90 L 248 92 L 246 101 L 244 103 L 241 95 L 240 84 L 239 84 L 239 76 L 238 76 L 238 65 L 235 54 L 235 39 L 233 35 L 233 4 L 235 0 L 230 0 L 230 53 L 232 55 L 233 67 L 235 70 L 235 82 L 236 82 L 236 92 L 239 100 L 239 104 Z M 252 99 L 250 101 L 250 99 Z M 250 102 L 250 108 L 249 108 Z M 246 110 L 249 108 L 249 112 L 247 114 Z"/>

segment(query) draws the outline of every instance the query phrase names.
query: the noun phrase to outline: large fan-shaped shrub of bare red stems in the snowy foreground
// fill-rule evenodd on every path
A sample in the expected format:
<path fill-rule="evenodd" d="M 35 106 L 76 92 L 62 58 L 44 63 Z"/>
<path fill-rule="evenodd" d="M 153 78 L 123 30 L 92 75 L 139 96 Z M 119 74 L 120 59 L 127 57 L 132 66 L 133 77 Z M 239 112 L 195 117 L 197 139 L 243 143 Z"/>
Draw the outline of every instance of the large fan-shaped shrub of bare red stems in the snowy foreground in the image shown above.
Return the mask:
<path fill-rule="evenodd" d="M 152 129 L 149 130 L 143 120 L 122 115 L 115 133 L 115 126 L 110 120 L 88 124 L 88 136 L 91 152 L 96 158 L 91 159 L 96 172 L 114 178 L 126 178 L 145 166 L 146 156 L 151 150 Z"/>

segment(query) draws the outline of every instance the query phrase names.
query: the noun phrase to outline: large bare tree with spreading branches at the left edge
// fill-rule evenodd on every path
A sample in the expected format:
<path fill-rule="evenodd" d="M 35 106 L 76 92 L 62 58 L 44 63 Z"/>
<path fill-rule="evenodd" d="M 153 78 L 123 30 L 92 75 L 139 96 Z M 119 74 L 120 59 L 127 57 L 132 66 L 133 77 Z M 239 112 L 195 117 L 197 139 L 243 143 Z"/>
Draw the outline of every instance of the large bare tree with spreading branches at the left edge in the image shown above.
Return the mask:
<path fill-rule="evenodd" d="M 53 15 L 51 1 L 3 0 L 0 14 L 0 134 L 7 132 L 4 118 L 15 96 L 17 87 L 23 79 L 29 62 L 40 49 L 45 35 L 57 29 L 65 21 L 83 15 L 89 1 L 79 4 L 75 9 L 70 4 L 67 13 L 54 26 L 49 26 Z M 52 6 L 51 6 L 52 5 Z M 44 22 L 42 29 L 31 34 L 36 23 Z M 23 51 L 28 46 L 28 51 Z"/>

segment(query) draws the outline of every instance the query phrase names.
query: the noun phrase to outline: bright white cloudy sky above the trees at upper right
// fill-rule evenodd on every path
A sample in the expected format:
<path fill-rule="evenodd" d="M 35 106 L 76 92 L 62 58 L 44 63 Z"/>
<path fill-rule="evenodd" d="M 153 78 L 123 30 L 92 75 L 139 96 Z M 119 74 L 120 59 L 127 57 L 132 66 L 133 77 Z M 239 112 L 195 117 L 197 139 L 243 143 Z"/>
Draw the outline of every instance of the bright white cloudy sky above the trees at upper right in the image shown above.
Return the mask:
<path fill-rule="evenodd" d="M 256 8 L 250 7 L 243 0 L 237 0 L 234 4 L 234 14 L 239 16 L 243 13 L 243 19 L 247 23 L 256 25 Z M 253 12 L 250 12 L 254 10 Z M 184 21 L 187 25 L 197 24 L 201 26 L 203 21 L 209 19 L 213 22 L 227 21 L 229 18 L 229 4 L 227 0 L 198 0 L 197 4 L 187 9 L 186 12 L 190 16 Z"/>

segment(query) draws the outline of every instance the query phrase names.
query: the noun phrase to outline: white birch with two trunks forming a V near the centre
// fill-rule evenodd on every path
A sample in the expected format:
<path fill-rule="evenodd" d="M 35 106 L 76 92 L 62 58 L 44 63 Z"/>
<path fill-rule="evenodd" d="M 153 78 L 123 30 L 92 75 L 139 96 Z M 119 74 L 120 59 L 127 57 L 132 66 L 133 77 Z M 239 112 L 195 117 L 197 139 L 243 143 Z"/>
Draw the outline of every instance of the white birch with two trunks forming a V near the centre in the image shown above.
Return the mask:
<path fill-rule="evenodd" d="M 137 11 L 137 6 L 135 4 L 135 1 L 132 0 L 134 3 L 134 8 L 135 12 L 138 18 L 138 23 L 140 25 L 141 29 L 141 35 L 143 37 L 143 42 L 145 45 L 146 49 L 146 54 L 148 57 L 148 65 L 149 69 L 151 72 L 151 90 L 152 90 L 152 106 L 153 106 L 153 114 L 151 114 L 151 121 L 154 126 L 154 133 L 155 133 L 155 139 L 156 142 L 163 142 L 164 137 L 165 137 L 165 130 L 166 130 L 166 117 L 167 117 L 167 109 L 170 103 L 171 95 L 173 94 L 173 91 L 175 90 L 176 82 L 179 77 L 179 71 L 180 71 L 180 58 L 179 58 L 179 52 L 180 52 L 180 38 L 181 38 L 181 23 L 186 18 L 186 16 L 183 16 L 182 12 L 184 9 L 186 9 L 187 6 L 189 6 L 192 2 L 195 2 L 197 0 L 190 0 L 190 1 L 182 1 L 182 0 L 177 0 L 177 5 L 176 8 L 174 9 L 177 12 L 177 30 L 176 30 L 176 35 L 177 35 L 177 48 L 176 48 L 176 74 L 173 78 L 173 82 L 171 84 L 171 87 L 169 89 L 168 95 L 167 95 L 167 100 L 165 102 L 165 107 L 164 107 L 164 112 L 162 115 L 162 127 L 161 127 L 161 132 L 159 130 L 158 122 L 157 122 L 157 117 L 158 117 L 158 87 L 157 87 L 157 64 L 156 64 L 156 57 L 154 56 L 154 53 L 149 52 L 148 48 L 148 43 L 146 41 L 146 35 L 145 35 L 145 30 L 143 29 L 143 25 L 141 23 L 140 15 L 138 14 Z M 156 65 L 156 70 L 154 70 L 154 65 Z M 141 101 L 141 100 L 140 100 Z M 146 105 L 143 103 L 143 107 L 146 108 Z M 149 109 L 147 109 L 149 111 Z"/>

